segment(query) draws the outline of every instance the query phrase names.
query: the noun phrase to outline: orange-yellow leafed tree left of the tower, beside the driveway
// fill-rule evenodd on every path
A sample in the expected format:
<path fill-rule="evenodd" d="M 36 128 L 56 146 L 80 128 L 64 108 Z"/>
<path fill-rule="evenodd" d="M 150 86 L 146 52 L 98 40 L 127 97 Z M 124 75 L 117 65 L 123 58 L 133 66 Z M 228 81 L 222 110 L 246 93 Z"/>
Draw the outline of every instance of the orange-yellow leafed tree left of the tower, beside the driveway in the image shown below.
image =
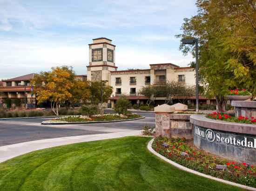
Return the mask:
<path fill-rule="evenodd" d="M 74 70 L 68 66 L 53 67 L 48 72 L 42 71 L 31 81 L 38 103 L 50 101 L 55 115 L 59 115 L 60 104 L 72 98 L 74 82 Z"/>

